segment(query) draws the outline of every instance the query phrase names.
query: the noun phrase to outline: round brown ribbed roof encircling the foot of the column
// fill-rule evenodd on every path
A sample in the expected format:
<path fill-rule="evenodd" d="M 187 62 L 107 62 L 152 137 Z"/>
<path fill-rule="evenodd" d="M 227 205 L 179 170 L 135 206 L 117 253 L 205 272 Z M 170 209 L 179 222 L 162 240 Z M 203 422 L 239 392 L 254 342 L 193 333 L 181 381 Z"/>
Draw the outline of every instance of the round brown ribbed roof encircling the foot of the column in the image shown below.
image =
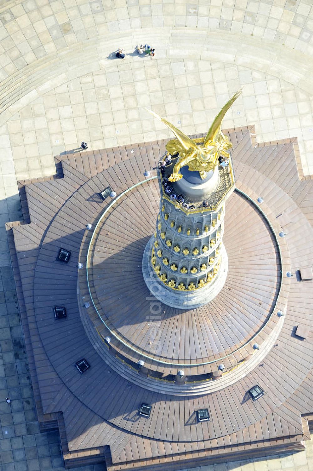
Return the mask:
<path fill-rule="evenodd" d="M 281 283 L 275 239 L 256 208 L 233 194 L 226 203 L 229 270 L 222 292 L 199 309 L 181 311 L 159 303 L 153 313 L 142 258 L 155 231 L 160 196 L 155 180 L 144 185 L 145 191 L 136 187 L 105 211 L 89 243 L 88 282 L 103 322 L 101 328 L 96 321 L 97 330 L 105 336 L 109 328 L 116 336 L 112 344 L 119 348 L 123 342 L 124 355 L 132 358 L 135 350 L 157 369 L 210 362 L 217 369 L 219 357 L 249 344 L 271 317 Z"/>

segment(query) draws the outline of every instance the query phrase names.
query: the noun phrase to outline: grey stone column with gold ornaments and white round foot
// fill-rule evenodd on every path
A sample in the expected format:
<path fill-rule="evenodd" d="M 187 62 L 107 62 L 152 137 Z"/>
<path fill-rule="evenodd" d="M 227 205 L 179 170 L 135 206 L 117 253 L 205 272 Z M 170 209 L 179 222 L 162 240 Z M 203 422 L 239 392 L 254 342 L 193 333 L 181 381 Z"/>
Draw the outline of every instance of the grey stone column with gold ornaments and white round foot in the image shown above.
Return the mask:
<path fill-rule="evenodd" d="M 202 306 L 212 300 L 225 283 L 228 268 L 223 246 L 225 201 L 214 208 L 208 203 L 210 195 L 220 185 L 216 176 L 218 168 L 200 185 L 184 178 L 173 184 L 172 194 L 167 195 L 168 187 L 159 175 L 160 212 L 155 234 L 144 252 L 143 274 L 152 294 L 171 307 Z M 199 187 L 203 187 L 202 190 Z M 184 194 L 178 194 L 181 190 Z M 194 204 L 184 203 L 196 192 Z"/>

